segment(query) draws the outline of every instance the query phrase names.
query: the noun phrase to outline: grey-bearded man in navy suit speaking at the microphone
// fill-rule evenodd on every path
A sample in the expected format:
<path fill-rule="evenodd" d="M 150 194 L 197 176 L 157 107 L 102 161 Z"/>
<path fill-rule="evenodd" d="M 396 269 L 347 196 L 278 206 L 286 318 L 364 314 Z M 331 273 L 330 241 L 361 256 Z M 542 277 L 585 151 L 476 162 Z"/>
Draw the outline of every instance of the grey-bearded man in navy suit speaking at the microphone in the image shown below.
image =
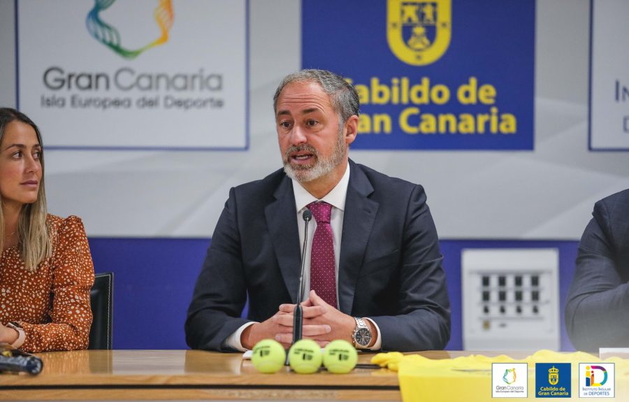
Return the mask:
<path fill-rule="evenodd" d="M 290 345 L 309 208 L 303 337 L 372 350 L 445 347 L 449 301 L 426 194 L 349 160 L 354 87 L 329 71 L 300 71 L 277 88 L 274 109 L 284 169 L 231 189 L 188 310 L 188 345 Z"/>

